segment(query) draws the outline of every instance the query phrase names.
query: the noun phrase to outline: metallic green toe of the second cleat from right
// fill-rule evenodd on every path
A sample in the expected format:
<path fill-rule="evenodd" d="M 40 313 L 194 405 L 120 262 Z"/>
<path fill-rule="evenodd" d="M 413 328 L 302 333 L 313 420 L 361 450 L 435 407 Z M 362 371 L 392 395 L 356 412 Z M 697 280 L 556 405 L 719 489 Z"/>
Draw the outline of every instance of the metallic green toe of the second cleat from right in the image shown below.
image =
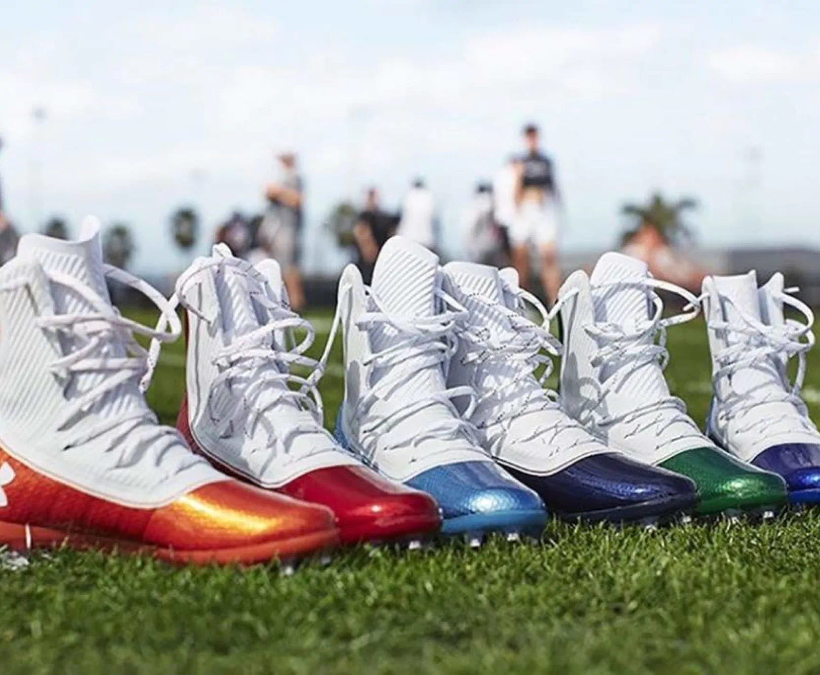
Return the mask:
<path fill-rule="evenodd" d="M 715 448 L 686 450 L 661 466 L 695 481 L 700 492 L 698 513 L 701 515 L 774 506 L 786 501 L 786 483 L 781 477 Z"/>

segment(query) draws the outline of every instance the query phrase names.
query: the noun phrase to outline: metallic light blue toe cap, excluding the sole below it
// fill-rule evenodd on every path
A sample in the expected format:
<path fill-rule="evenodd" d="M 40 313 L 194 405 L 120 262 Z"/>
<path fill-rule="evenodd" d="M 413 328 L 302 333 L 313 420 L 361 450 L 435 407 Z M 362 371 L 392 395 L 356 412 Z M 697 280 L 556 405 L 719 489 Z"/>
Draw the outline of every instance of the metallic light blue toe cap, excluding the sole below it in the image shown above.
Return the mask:
<path fill-rule="evenodd" d="M 435 467 L 413 477 L 407 485 L 432 495 L 445 521 L 479 514 L 544 512 L 544 503 L 535 492 L 492 462 Z"/>

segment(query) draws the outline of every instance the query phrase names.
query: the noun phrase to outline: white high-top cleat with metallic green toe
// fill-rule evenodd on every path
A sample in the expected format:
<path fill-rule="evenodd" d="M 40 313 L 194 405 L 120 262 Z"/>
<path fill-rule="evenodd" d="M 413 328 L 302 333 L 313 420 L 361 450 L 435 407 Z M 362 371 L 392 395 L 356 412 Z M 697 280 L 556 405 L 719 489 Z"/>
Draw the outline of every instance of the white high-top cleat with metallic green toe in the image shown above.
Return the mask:
<path fill-rule="evenodd" d="M 656 290 L 686 299 L 684 312 L 663 317 Z M 669 394 L 665 330 L 697 315 L 694 295 L 655 280 L 640 260 L 605 253 L 591 277 L 576 271 L 566 280 L 558 303 L 567 413 L 610 448 L 694 480 L 698 515 L 770 513 L 786 501 L 781 477 L 718 449 Z"/>

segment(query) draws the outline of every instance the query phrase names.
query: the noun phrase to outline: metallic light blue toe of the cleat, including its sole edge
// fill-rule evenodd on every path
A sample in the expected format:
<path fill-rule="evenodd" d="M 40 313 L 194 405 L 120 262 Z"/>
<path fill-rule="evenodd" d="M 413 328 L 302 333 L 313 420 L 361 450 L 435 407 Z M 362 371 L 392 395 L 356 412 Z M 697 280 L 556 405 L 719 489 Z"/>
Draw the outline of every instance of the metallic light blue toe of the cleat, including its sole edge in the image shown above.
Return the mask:
<path fill-rule="evenodd" d="M 492 462 L 446 464 L 404 484 L 438 501 L 444 535 L 501 531 L 508 536 L 538 536 L 547 521 L 541 498 Z"/>

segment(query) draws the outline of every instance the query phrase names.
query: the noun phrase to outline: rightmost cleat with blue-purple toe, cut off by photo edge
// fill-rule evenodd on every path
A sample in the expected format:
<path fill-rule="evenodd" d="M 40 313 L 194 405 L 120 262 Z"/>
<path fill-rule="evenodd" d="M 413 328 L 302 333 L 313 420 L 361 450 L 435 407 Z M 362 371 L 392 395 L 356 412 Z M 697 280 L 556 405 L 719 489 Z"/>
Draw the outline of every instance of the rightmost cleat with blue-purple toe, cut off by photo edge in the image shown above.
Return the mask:
<path fill-rule="evenodd" d="M 800 386 L 814 344 L 813 312 L 772 276 L 758 289 L 754 271 L 704 280 L 704 314 L 712 352 L 713 399 L 707 433 L 722 448 L 786 480 L 796 504 L 820 503 L 820 433 Z M 783 306 L 806 323 L 787 320 Z M 795 383 L 788 375 L 797 356 Z"/>

